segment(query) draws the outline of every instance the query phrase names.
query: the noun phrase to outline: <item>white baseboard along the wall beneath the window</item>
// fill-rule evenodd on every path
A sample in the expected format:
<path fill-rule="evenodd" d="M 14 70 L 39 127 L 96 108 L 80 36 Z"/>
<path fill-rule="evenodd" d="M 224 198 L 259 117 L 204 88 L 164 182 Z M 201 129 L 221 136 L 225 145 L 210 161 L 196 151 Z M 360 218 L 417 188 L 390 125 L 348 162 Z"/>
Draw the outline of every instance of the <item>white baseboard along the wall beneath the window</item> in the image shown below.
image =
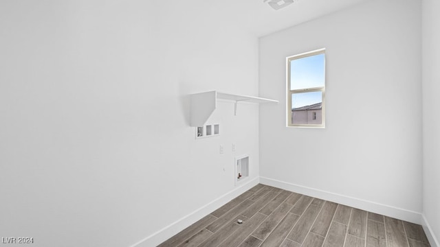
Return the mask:
<path fill-rule="evenodd" d="M 328 200 L 331 202 L 336 202 L 338 204 L 344 204 L 349 207 L 354 207 L 356 209 L 362 209 L 365 211 L 370 211 L 372 213 L 379 213 L 386 215 L 388 217 L 394 217 L 399 220 L 406 220 L 407 222 L 412 222 L 415 224 L 421 224 L 421 213 L 410 211 L 406 209 L 399 209 L 397 207 L 392 207 L 385 204 L 380 204 L 377 202 L 371 202 L 368 200 L 362 200 L 359 198 L 353 198 L 350 196 L 340 195 L 338 193 L 331 193 L 329 191 L 322 191 L 320 189 L 314 189 L 309 187 L 304 187 L 301 185 L 294 185 L 292 183 L 286 183 L 280 180 L 274 180 L 271 178 L 260 177 L 260 183 L 263 185 L 270 185 L 280 189 L 285 189 L 287 191 L 293 191 L 296 193 L 301 193 L 306 196 L 312 196 L 315 198 L 320 198 L 322 200 Z M 437 246 L 440 247 L 440 246 Z"/>

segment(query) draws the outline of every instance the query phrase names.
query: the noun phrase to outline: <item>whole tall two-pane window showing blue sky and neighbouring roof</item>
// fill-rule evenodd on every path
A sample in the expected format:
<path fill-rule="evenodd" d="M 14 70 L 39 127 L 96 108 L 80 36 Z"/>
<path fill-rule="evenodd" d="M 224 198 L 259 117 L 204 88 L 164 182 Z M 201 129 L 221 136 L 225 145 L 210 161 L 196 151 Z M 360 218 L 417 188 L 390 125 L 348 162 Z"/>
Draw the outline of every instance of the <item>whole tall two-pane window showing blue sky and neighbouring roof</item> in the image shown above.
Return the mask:
<path fill-rule="evenodd" d="M 325 49 L 287 58 L 287 126 L 325 128 Z"/>

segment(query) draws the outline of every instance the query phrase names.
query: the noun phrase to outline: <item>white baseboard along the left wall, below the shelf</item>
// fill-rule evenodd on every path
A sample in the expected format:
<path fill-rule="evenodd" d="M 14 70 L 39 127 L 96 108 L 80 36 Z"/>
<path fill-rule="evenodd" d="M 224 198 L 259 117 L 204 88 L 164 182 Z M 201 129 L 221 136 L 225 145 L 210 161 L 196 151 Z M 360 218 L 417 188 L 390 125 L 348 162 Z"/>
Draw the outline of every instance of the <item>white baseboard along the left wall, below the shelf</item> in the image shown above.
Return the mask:
<path fill-rule="evenodd" d="M 241 193 L 244 193 L 245 191 L 248 191 L 250 188 L 254 187 L 255 185 L 258 185 L 260 180 L 259 177 L 257 177 L 252 180 L 249 180 L 246 183 L 244 182 L 245 181 L 243 181 L 243 185 L 237 186 L 232 191 L 225 193 L 220 198 L 217 198 L 212 202 L 209 202 L 200 209 L 197 209 L 196 211 L 182 217 L 180 220 L 173 222 L 169 226 L 166 226 L 161 230 L 149 235 L 148 237 L 142 239 L 140 242 L 133 244 L 131 247 L 151 247 L 161 244 L 166 239 L 173 237 L 175 234 L 184 230 L 184 228 L 197 222 L 202 217 L 205 217 L 206 215 L 212 213 L 212 211 L 215 211 L 216 209 L 219 209 L 219 207 L 228 203 L 230 200 L 241 195 Z"/>

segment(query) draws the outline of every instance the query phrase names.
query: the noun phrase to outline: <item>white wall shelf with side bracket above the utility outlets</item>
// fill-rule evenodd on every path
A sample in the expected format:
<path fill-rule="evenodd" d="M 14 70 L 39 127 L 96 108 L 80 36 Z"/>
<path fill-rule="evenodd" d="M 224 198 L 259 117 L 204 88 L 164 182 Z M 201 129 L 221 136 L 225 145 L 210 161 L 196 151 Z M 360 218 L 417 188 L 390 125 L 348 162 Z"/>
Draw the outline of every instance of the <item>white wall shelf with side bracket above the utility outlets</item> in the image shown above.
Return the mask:
<path fill-rule="evenodd" d="M 247 95 L 234 95 L 231 93 L 221 93 L 218 91 L 209 91 L 205 93 L 195 93 L 191 95 L 190 104 L 190 126 L 199 127 L 208 121 L 210 115 L 217 108 L 218 100 L 226 100 L 234 102 L 236 115 L 236 108 L 239 102 L 247 103 L 278 103 L 275 99 L 265 99 L 262 97 L 253 97 Z"/>

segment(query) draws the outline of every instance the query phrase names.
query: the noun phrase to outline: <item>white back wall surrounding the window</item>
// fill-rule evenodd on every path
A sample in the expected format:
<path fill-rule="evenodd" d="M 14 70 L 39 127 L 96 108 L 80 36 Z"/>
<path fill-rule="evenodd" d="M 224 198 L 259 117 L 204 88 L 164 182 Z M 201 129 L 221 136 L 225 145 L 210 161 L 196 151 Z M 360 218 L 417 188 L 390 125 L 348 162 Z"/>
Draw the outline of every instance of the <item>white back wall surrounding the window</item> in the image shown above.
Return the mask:
<path fill-rule="evenodd" d="M 260 38 L 261 181 L 420 222 L 420 27 L 419 1 L 376 0 Z M 326 128 L 286 128 L 285 58 L 320 48 Z"/>

